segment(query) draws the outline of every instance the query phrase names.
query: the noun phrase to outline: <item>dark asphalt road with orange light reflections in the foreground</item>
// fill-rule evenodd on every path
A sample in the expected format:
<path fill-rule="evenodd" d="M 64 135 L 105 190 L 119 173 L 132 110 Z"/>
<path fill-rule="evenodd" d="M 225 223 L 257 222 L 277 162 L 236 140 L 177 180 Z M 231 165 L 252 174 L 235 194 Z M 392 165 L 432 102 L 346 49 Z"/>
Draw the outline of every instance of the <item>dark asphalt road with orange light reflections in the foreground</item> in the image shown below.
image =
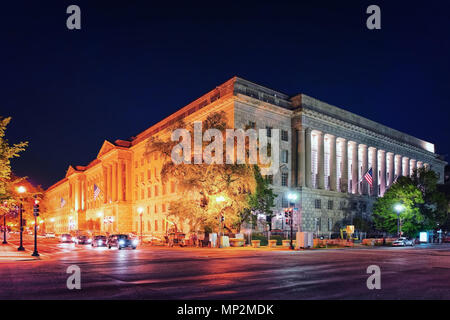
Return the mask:
<path fill-rule="evenodd" d="M 32 237 L 24 246 L 33 249 Z M 449 245 L 119 251 L 40 239 L 39 251 L 40 261 L 0 262 L 0 299 L 450 299 Z M 67 289 L 71 265 L 81 290 Z M 380 290 L 367 288 L 370 265 Z"/>

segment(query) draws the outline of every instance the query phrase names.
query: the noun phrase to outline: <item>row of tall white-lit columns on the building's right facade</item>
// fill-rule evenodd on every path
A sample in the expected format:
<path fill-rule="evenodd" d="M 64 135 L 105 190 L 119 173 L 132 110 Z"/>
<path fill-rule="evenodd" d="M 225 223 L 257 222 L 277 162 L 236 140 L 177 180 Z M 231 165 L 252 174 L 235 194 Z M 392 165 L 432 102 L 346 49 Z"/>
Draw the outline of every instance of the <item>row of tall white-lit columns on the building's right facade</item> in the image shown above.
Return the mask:
<path fill-rule="evenodd" d="M 314 150 L 313 138 L 316 142 Z M 327 164 L 325 164 L 325 139 L 328 140 L 329 144 L 327 150 L 329 163 Z M 394 182 L 395 176 L 409 176 L 417 167 L 428 166 L 428 164 L 416 159 L 409 159 L 381 149 L 378 150 L 375 147 L 358 144 L 355 141 L 347 141 L 341 137 L 336 138 L 333 135 L 324 134 L 311 128 L 301 128 L 297 131 L 297 144 L 296 183 L 300 187 L 377 196 L 384 194 L 386 188 Z M 314 176 L 316 173 L 312 172 L 312 165 L 315 160 L 312 158 L 313 152 L 314 158 L 317 159 L 317 166 L 314 166 L 317 168 L 316 176 Z M 337 161 L 338 152 L 340 155 L 339 163 Z M 350 162 L 351 167 L 349 168 Z M 373 177 L 371 190 L 369 190 L 369 185 L 363 178 L 364 174 L 370 169 L 369 163 Z M 378 164 L 380 168 L 378 168 Z M 325 176 L 326 166 L 329 176 Z M 380 181 L 378 181 L 378 176 Z M 380 190 L 378 190 L 378 186 Z"/>

